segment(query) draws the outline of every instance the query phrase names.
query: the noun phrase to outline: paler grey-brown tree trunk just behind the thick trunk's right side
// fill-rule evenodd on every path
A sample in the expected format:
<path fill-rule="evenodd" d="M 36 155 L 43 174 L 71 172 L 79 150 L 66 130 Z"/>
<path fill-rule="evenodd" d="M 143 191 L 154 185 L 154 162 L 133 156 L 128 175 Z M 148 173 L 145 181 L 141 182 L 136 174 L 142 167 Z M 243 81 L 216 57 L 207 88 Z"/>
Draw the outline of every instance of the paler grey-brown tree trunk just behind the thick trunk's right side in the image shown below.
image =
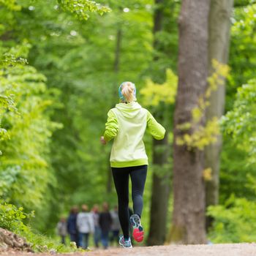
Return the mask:
<path fill-rule="evenodd" d="M 214 72 L 211 61 L 216 59 L 227 64 L 230 46 L 230 16 L 233 10 L 233 0 L 211 0 L 209 15 L 209 45 L 208 70 L 209 75 Z M 225 86 L 218 86 L 217 91 L 211 93 L 210 106 L 206 110 L 206 120 L 214 116 L 220 118 L 225 108 Z M 206 167 L 211 168 L 212 179 L 206 182 L 206 206 L 216 205 L 219 200 L 219 154 L 222 148 L 222 137 L 219 135 L 217 143 L 206 147 Z M 211 219 L 206 219 L 209 227 Z"/>

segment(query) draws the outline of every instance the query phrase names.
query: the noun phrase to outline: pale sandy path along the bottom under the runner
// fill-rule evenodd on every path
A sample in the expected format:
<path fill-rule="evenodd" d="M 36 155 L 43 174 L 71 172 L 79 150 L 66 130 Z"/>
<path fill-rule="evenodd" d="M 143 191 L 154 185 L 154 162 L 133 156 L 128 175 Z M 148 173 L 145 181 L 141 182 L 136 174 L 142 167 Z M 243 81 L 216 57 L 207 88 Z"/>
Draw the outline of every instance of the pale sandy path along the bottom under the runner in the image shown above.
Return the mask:
<path fill-rule="evenodd" d="M 1 254 L 12 255 L 12 254 Z M 18 256 L 50 256 L 50 253 L 31 254 L 16 252 Z M 92 250 L 58 256 L 256 256 L 256 244 L 214 244 L 214 245 L 170 245 L 135 247 L 133 249 L 113 248 L 108 250 Z"/>

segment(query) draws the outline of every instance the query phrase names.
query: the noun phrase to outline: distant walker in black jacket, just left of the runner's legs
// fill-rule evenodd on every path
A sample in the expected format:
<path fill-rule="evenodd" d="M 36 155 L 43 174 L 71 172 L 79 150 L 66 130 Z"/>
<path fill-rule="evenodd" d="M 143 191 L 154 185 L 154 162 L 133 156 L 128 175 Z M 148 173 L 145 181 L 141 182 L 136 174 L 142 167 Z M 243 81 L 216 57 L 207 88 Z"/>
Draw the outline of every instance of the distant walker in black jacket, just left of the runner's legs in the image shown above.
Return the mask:
<path fill-rule="evenodd" d="M 99 214 L 99 227 L 102 230 L 102 245 L 104 249 L 108 248 L 108 234 L 112 225 L 112 217 L 108 209 L 108 203 L 103 203 L 103 211 Z"/>

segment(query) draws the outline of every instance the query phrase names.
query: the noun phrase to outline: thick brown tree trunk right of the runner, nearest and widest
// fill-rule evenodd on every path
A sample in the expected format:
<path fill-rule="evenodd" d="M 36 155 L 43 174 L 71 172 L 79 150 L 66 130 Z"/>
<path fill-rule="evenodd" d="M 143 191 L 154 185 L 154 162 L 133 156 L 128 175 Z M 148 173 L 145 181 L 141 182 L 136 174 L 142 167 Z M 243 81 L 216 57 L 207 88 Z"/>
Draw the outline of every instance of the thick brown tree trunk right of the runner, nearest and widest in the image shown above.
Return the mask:
<path fill-rule="evenodd" d="M 173 227 L 170 240 L 181 244 L 206 243 L 203 151 L 178 146 L 189 131 L 179 124 L 192 123 L 192 109 L 206 90 L 208 77 L 208 12 L 210 0 L 184 0 L 179 18 L 178 94 L 174 113 Z M 202 121 L 203 123 L 203 121 Z"/>

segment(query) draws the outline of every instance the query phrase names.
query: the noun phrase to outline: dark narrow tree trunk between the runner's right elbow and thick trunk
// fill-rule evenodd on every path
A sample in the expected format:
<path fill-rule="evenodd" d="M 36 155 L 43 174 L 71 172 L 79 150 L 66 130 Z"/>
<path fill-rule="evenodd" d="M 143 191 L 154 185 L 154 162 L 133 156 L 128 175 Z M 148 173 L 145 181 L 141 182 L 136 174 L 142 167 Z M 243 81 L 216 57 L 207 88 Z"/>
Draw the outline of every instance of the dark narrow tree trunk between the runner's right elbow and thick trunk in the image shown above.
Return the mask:
<path fill-rule="evenodd" d="M 154 11 L 154 44 L 155 50 L 159 48 L 159 42 L 156 38 L 156 33 L 162 30 L 162 4 L 163 0 L 155 0 L 156 9 Z M 154 61 L 157 61 L 157 56 L 154 56 Z M 153 78 L 154 80 L 154 78 Z M 163 122 L 163 115 L 159 118 Z M 168 138 L 167 132 L 164 140 L 153 139 L 153 166 L 154 168 L 163 168 L 168 162 Z M 159 150 L 159 148 L 161 148 Z M 165 171 L 165 170 L 162 170 Z M 166 235 L 167 208 L 170 195 L 170 174 L 159 176 L 157 172 L 153 173 L 152 192 L 151 192 L 151 208 L 150 208 L 150 228 L 148 236 L 148 245 L 164 244 Z"/>

